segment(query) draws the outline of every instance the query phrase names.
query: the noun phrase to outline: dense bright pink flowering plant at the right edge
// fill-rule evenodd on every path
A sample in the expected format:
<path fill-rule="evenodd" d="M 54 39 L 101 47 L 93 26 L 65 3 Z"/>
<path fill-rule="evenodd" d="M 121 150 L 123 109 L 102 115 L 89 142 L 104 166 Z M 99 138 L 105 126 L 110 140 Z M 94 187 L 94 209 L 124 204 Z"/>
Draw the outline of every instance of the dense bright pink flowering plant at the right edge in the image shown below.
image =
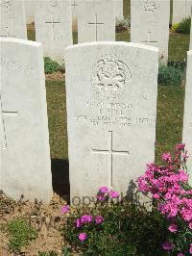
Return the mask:
<path fill-rule="evenodd" d="M 167 220 L 169 235 L 162 248 L 178 256 L 192 254 L 192 189 L 187 158 L 184 144 L 179 144 L 174 155 L 162 154 L 163 166 L 148 165 L 137 180 L 139 190 L 152 194 L 157 211 Z"/>

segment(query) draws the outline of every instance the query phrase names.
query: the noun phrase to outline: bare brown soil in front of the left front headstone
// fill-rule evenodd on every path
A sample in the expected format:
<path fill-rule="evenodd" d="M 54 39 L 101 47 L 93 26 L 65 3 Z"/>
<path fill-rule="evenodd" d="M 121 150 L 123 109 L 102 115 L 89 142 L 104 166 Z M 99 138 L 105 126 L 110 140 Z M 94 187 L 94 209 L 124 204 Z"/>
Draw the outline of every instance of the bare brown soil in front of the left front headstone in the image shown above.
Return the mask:
<path fill-rule="evenodd" d="M 12 219 L 25 218 L 37 230 L 37 239 L 22 247 L 19 255 L 35 256 L 39 251 L 49 252 L 52 250 L 61 255 L 60 249 L 63 245 L 67 245 L 61 232 L 66 221 L 66 214 L 61 213 L 61 207 L 66 205 L 66 202 L 59 195 L 55 193 L 50 204 L 42 204 L 41 202 L 31 203 L 22 197 L 15 202 L 1 192 L 0 203 L 0 226 Z M 9 235 L 5 231 L 1 231 L 0 256 L 15 255 L 9 252 L 8 243 Z"/>

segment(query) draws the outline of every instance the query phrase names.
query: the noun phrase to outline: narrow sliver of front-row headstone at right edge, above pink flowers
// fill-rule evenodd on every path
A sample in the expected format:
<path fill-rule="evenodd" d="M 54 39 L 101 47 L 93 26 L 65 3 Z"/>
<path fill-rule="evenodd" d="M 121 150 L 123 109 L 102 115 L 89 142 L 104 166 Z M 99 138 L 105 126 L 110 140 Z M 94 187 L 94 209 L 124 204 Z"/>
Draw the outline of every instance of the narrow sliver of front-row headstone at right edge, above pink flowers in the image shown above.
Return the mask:
<path fill-rule="evenodd" d="M 184 100 L 184 120 L 182 141 L 186 145 L 187 153 L 190 155 L 187 161 L 187 168 L 190 174 L 190 184 L 192 186 L 192 51 L 187 53 L 187 72 Z"/>

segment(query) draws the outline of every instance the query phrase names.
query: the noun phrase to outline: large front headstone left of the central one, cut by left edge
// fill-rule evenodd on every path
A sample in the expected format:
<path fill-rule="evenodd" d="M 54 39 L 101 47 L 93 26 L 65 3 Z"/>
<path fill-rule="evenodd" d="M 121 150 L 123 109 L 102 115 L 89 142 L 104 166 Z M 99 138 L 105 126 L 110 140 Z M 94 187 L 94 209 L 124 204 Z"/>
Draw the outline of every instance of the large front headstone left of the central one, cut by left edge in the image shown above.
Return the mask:
<path fill-rule="evenodd" d="M 42 46 L 0 39 L 0 190 L 13 199 L 48 202 L 51 161 Z"/>

